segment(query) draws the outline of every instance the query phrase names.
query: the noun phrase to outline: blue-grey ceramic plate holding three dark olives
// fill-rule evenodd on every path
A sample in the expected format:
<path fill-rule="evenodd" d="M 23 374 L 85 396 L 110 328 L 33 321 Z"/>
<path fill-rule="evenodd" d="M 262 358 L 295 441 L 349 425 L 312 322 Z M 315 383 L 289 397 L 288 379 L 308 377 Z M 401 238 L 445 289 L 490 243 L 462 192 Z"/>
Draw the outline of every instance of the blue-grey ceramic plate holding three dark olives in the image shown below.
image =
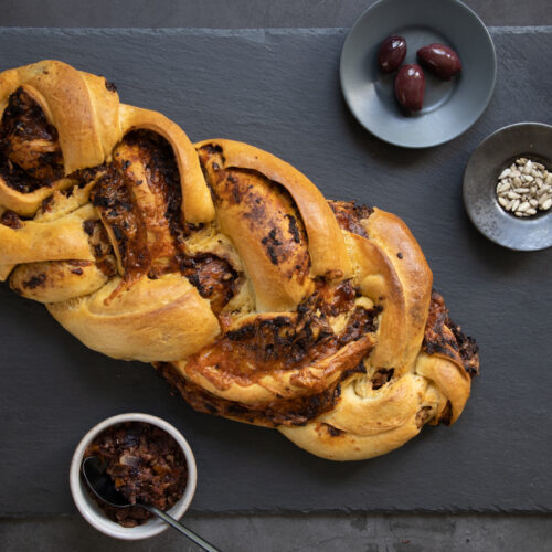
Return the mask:
<path fill-rule="evenodd" d="M 461 74 L 440 81 L 425 71 L 424 107 L 405 114 L 395 100 L 395 74 L 378 70 L 378 49 L 390 34 L 406 39 L 404 63 L 432 42 L 452 46 Z M 497 63 L 482 21 L 458 0 L 380 0 L 354 23 L 341 52 L 341 88 L 357 119 L 382 140 L 406 148 L 444 144 L 484 113 L 495 88 Z"/>

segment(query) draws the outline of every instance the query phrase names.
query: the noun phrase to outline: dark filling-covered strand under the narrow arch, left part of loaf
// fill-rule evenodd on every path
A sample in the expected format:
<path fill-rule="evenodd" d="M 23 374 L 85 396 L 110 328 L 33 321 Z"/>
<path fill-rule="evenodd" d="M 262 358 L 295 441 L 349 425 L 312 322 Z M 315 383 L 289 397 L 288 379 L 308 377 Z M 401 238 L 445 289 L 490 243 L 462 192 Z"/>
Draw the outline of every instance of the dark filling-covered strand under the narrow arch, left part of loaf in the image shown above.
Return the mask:
<path fill-rule="evenodd" d="M 180 272 L 214 312 L 234 296 L 238 274 L 227 261 L 187 251 L 185 237 L 198 227 L 182 222 L 178 164 L 164 138 L 146 130 L 126 135 L 91 199 L 117 245 L 124 270 L 117 293 L 145 275 Z"/>

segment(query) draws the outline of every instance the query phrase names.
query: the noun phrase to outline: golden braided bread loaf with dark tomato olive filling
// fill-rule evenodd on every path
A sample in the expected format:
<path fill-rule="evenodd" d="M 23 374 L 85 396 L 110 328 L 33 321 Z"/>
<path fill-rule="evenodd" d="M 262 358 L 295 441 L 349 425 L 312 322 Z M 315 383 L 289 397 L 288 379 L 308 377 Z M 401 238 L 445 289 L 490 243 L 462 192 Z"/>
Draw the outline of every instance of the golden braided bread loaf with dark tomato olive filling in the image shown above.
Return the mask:
<path fill-rule="evenodd" d="M 87 347 L 337 460 L 458 418 L 477 346 L 400 219 L 61 62 L 2 73 L 0 100 L 0 277 Z"/>

